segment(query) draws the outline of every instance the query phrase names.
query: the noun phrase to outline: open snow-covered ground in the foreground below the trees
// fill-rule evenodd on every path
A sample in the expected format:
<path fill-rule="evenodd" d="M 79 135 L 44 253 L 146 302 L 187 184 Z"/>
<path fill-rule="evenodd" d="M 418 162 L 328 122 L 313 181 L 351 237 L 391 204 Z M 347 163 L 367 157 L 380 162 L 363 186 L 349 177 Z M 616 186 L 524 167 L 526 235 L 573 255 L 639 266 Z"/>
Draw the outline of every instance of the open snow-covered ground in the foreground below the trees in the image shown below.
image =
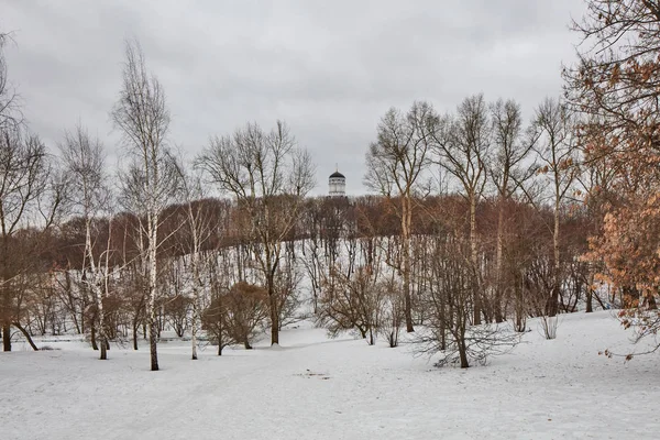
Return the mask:
<path fill-rule="evenodd" d="M 410 346 L 369 346 L 321 329 L 284 331 L 283 348 L 183 342 L 148 353 L 80 342 L 0 353 L 0 439 L 657 439 L 660 360 L 624 363 L 630 332 L 609 312 L 535 329 L 487 366 L 436 369 Z M 638 348 L 640 349 L 640 348 Z"/>

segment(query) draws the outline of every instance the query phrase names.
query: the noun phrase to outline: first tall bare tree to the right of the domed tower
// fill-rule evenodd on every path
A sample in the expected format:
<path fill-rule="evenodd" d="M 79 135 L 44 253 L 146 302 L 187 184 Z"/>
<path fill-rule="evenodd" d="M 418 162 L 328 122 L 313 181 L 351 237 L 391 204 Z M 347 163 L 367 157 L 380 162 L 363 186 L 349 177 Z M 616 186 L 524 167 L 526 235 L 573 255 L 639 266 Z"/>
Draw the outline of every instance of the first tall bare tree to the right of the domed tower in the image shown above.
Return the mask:
<path fill-rule="evenodd" d="M 366 153 L 365 185 L 392 201 L 400 219 L 403 296 L 406 330 L 415 331 L 411 314 L 410 234 L 415 196 L 430 161 L 430 130 L 437 122 L 433 108 L 415 102 L 406 116 L 392 108 L 381 119 L 377 140 Z M 392 198 L 395 198 L 394 200 Z M 399 206 L 400 204 L 400 206 Z"/>

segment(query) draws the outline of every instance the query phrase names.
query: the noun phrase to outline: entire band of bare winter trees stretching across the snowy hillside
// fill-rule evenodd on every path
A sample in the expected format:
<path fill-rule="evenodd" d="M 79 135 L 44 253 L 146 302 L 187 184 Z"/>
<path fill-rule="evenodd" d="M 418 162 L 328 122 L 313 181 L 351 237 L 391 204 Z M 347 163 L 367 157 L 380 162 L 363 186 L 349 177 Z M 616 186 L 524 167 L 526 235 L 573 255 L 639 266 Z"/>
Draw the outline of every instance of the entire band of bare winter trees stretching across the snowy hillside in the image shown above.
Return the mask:
<path fill-rule="evenodd" d="M 522 120 L 515 100 L 388 110 L 366 153 L 372 196 L 311 198 L 315 168 L 286 123 L 211 139 L 193 164 L 136 42 L 111 118 L 128 163 L 118 188 L 84 127 L 57 157 L 22 121 L 0 57 L 0 323 L 31 336 L 147 338 L 164 330 L 252 346 L 308 309 L 331 334 L 398 344 L 439 363 L 513 346 L 529 317 L 620 307 L 659 328 L 660 8 L 587 1 L 565 96 Z M 0 35 L 1 45 L 7 35 Z M 1 52 L 0 52 L 1 54 Z M 211 185 L 202 182 L 211 182 Z M 226 198 L 210 197 L 217 190 Z M 510 322 L 507 324 L 506 322 Z M 36 350 L 37 346 L 33 344 Z"/>

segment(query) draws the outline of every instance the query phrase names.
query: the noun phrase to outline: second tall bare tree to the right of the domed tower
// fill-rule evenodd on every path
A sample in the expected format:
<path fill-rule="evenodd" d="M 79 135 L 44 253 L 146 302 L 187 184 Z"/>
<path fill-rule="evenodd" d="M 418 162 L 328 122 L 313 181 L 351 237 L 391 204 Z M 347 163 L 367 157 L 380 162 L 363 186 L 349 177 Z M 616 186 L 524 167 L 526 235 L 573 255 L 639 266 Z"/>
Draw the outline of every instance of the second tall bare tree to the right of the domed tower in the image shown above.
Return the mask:
<path fill-rule="evenodd" d="M 483 280 L 479 265 L 476 206 L 487 182 L 492 124 L 483 95 L 465 98 L 455 117 L 447 117 L 433 131 L 439 165 L 453 176 L 470 205 L 470 249 L 474 272 L 474 323 L 481 323 Z"/>

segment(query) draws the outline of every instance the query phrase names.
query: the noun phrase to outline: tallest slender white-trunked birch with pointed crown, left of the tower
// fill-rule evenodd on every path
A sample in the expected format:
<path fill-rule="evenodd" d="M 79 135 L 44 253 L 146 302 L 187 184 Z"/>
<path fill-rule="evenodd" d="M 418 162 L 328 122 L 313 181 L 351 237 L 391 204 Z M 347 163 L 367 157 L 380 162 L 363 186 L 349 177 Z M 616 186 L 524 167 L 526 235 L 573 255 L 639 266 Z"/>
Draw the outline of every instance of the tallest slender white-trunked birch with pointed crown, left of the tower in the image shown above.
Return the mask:
<path fill-rule="evenodd" d="M 157 251 L 163 211 L 179 189 L 179 170 L 167 147 L 169 110 L 161 82 L 146 72 L 138 42 L 127 42 L 122 88 L 111 112 L 131 157 L 121 176 L 123 204 L 139 219 L 141 257 L 146 272 L 146 318 L 150 332 L 151 370 L 158 370 L 155 302 Z"/>

